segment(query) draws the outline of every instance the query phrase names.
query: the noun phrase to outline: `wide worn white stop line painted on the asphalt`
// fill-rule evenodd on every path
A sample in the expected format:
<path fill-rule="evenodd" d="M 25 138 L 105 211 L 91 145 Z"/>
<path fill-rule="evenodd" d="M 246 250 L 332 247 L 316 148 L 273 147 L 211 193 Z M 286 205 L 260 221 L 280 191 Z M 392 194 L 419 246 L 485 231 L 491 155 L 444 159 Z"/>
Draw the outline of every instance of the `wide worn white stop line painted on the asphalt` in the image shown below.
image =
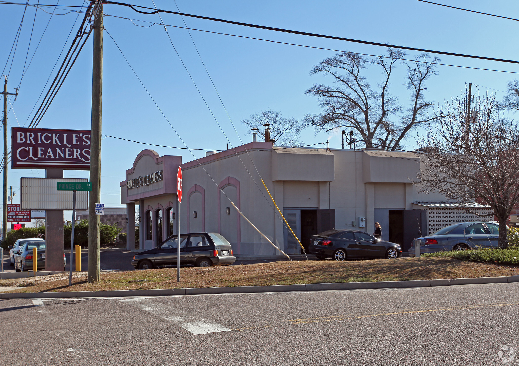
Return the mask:
<path fill-rule="evenodd" d="M 200 319 L 196 315 L 189 315 L 186 312 L 175 309 L 174 307 L 152 302 L 145 298 L 118 299 L 120 302 L 135 306 L 141 310 L 160 316 L 163 319 L 175 323 L 193 334 L 206 334 L 215 332 L 227 332 L 230 329 L 212 320 Z"/>

